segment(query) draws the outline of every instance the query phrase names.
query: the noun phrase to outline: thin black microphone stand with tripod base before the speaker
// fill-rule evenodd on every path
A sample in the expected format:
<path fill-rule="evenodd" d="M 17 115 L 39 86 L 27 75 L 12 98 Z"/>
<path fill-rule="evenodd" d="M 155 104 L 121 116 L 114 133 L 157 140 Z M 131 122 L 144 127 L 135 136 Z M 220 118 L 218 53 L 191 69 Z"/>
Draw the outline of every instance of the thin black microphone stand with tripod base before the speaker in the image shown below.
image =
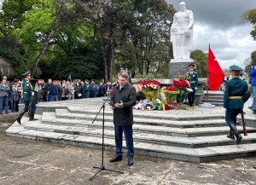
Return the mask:
<path fill-rule="evenodd" d="M 105 114 L 105 103 L 106 103 L 107 101 L 108 101 L 108 98 L 107 98 L 106 101 L 103 102 L 101 109 L 100 109 L 99 112 L 96 114 L 95 119 L 93 119 L 93 121 L 92 121 L 92 124 L 93 124 L 93 123 L 95 122 L 97 116 L 99 115 L 99 113 L 102 111 L 102 108 L 103 108 L 103 118 L 102 118 L 102 165 L 101 165 L 101 167 L 93 166 L 93 168 L 97 168 L 97 169 L 100 169 L 100 170 L 97 171 L 94 176 L 91 176 L 91 177 L 90 177 L 90 181 L 91 181 L 98 173 L 100 173 L 101 171 L 113 171 L 113 170 L 109 170 L 109 169 L 105 168 L 104 162 L 103 162 L 103 161 L 104 161 L 104 120 L 105 120 L 105 119 L 104 119 L 104 114 Z M 113 172 L 117 172 L 117 173 L 124 174 L 124 172 L 122 172 L 122 171 L 113 171 Z"/>

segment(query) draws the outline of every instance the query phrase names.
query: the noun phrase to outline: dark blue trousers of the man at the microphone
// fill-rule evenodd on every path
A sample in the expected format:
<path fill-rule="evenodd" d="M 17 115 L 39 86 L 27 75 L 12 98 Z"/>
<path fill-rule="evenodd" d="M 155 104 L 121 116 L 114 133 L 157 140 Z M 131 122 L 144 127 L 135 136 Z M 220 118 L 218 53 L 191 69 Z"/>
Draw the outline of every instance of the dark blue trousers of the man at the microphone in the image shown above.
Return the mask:
<path fill-rule="evenodd" d="M 114 125 L 114 133 L 115 133 L 115 153 L 117 156 L 123 154 L 123 132 L 125 134 L 125 142 L 127 148 L 127 158 L 133 158 L 134 155 L 134 147 L 133 147 L 133 138 L 132 138 L 132 125 L 127 126 L 118 126 Z"/>

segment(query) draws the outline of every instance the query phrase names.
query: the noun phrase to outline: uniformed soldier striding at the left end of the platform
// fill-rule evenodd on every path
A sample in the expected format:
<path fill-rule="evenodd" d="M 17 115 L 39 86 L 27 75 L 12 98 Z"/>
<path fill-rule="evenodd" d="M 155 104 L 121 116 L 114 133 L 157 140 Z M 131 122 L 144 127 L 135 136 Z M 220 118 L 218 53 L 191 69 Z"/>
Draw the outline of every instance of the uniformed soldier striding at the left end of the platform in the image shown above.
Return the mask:
<path fill-rule="evenodd" d="M 24 113 L 28 112 L 28 106 L 29 106 L 29 102 L 30 102 L 31 96 L 34 95 L 32 84 L 29 81 L 30 78 L 31 78 L 30 71 L 24 72 L 22 75 L 25 78 L 23 80 L 23 83 L 22 83 L 22 87 L 23 87 L 23 100 L 24 100 L 25 108 L 20 112 L 18 118 L 16 119 L 19 124 L 21 124 L 20 119 L 22 118 Z M 37 107 L 36 107 L 34 98 L 32 98 L 31 116 L 30 116 L 30 119 L 29 119 L 30 121 L 38 120 L 38 119 L 34 118 L 36 108 Z"/>

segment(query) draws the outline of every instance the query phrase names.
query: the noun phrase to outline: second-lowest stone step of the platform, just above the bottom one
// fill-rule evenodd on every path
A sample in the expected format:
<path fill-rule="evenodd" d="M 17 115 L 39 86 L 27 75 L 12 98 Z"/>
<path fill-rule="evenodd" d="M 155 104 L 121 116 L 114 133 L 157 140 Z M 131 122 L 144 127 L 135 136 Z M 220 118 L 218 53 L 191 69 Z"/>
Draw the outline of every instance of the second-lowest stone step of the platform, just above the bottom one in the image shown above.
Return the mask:
<path fill-rule="evenodd" d="M 79 135 L 79 136 L 94 136 L 94 137 L 102 137 L 102 123 L 99 124 L 99 127 L 84 127 L 84 126 L 70 126 L 70 125 L 60 125 L 60 124 L 42 124 L 41 120 L 26 122 L 25 129 L 26 130 L 39 130 L 39 131 L 47 131 L 47 132 L 55 132 L 55 133 L 63 133 L 70 135 Z M 155 133 L 150 133 L 150 130 L 147 128 L 137 127 L 137 125 L 133 125 L 133 136 L 134 140 L 137 142 L 150 142 L 154 144 L 164 144 L 170 146 L 178 146 L 178 147 L 209 147 L 216 145 L 229 145 L 234 144 L 234 140 L 230 140 L 226 137 L 226 133 L 228 132 L 227 128 L 224 127 L 224 135 L 212 136 L 212 132 L 208 132 L 208 136 L 197 136 L 197 137 L 184 137 L 184 136 L 168 136 L 167 134 L 159 134 L 156 130 Z M 144 131 L 142 132 L 142 130 Z M 238 127 L 239 130 L 242 130 L 241 127 Z M 247 128 L 247 130 L 255 130 L 252 128 Z M 195 130 L 192 130 L 195 131 Z M 191 132 L 192 132 L 191 131 Z M 145 133 L 146 132 L 146 133 Z M 106 126 L 105 124 L 105 132 L 104 136 L 106 138 L 114 138 L 113 124 Z M 253 136 L 256 136 L 256 133 L 250 133 L 249 137 L 245 137 L 245 140 L 242 142 L 254 142 Z M 255 137 L 256 138 L 256 137 Z"/>

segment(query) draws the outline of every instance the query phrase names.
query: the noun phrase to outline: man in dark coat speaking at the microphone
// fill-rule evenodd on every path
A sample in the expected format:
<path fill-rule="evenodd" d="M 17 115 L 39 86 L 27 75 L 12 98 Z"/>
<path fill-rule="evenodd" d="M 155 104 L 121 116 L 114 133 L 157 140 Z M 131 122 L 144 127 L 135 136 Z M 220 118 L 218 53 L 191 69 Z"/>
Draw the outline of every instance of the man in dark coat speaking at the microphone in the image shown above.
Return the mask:
<path fill-rule="evenodd" d="M 110 162 L 122 160 L 123 132 L 125 133 L 125 142 L 127 148 L 128 165 L 133 165 L 133 138 L 132 107 L 136 104 L 136 90 L 128 84 L 128 74 L 119 73 L 119 85 L 113 87 L 113 96 L 111 97 L 111 109 L 113 110 L 113 124 L 115 133 L 116 155 Z"/>

